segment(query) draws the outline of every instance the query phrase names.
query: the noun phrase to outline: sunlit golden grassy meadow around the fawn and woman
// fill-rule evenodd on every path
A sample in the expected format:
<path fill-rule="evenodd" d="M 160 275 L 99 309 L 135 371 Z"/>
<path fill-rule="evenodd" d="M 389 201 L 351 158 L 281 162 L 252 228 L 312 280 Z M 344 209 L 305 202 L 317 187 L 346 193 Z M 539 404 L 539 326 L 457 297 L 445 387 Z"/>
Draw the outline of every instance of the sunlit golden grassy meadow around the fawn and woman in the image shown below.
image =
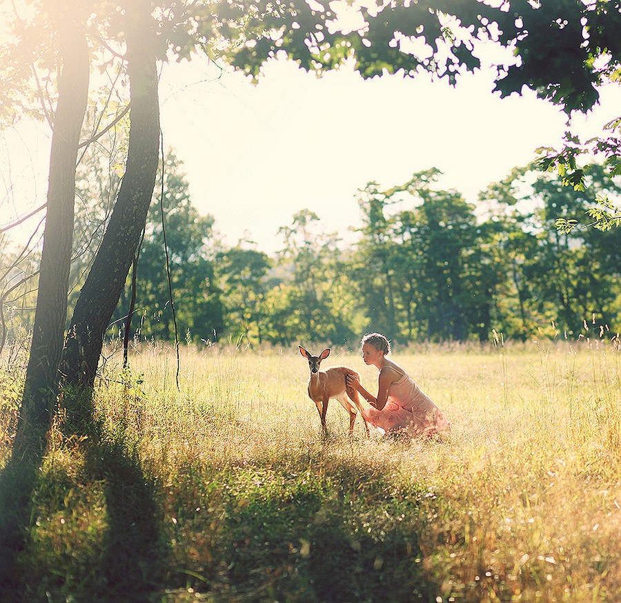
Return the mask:
<path fill-rule="evenodd" d="M 317 349 L 312 349 L 317 353 Z M 619 602 L 618 340 L 395 349 L 444 442 L 327 436 L 297 347 L 108 351 L 55 422 L 19 553 L 28 602 Z M 0 463 L 26 357 L 1 358 Z M 375 391 L 357 351 L 333 350 Z M 1 599 L 1 596 L 0 596 Z M 14 599 L 18 600 L 18 599 Z"/>

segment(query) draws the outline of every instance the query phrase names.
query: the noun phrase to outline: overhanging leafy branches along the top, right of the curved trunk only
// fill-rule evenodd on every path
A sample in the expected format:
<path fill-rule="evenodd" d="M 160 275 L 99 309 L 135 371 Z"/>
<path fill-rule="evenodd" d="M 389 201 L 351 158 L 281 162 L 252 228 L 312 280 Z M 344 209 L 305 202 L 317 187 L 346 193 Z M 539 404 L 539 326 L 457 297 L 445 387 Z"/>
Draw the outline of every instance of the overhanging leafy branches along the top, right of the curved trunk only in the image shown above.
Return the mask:
<path fill-rule="evenodd" d="M 219 45 L 255 79 L 265 61 L 286 56 L 308 71 L 353 58 L 363 77 L 426 71 L 455 83 L 480 67 L 480 43 L 492 42 L 514 55 L 496 65 L 502 96 L 527 86 L 570 114 L 591 109 L 597 87 L 620 68 L 618 2 L 228 0 L 193 3 L 192 10 L 197 43 Z M 604 55 L 607 61 L 598 60 Z"/>

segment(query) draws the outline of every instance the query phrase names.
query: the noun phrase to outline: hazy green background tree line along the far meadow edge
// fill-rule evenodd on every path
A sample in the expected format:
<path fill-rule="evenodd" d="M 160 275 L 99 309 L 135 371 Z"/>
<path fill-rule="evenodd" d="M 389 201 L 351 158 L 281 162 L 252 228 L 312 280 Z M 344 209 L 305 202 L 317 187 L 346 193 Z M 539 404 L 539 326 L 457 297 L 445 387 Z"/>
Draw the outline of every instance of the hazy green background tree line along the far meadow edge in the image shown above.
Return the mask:
<path fill-rule="evenodd" d="M 112 197 L 119 175 L 93 178 L 93 163 L 101 157 L 79 170 L 81 198 Z M 252 241 L 223 243 L 213 216 L 193 205 L 172 150 L 163 174 L 109 338 L 351 345 L 369 330 L 402 343 L 619 330 L 618 231 L 584 224 L 593 198 L 621 192 L 602 165 L 585 168 L 584 190 L 532 166 L 516 168 L 476 204 L 442 190 L 435 168 L 388 190 L 370 182 L 357 193 L 355 243 L 345 245 L 311 209 L 300 209 L 280 227 L 282 247 L 271 256 Z M 77 212 L 70 307 L 105 221 L 100 203 Z M 559 221 L 583 226 L 560 229 Z M 12 316 L 13 328 L 23 329 L 32 310 L 14 307 Z"/>

